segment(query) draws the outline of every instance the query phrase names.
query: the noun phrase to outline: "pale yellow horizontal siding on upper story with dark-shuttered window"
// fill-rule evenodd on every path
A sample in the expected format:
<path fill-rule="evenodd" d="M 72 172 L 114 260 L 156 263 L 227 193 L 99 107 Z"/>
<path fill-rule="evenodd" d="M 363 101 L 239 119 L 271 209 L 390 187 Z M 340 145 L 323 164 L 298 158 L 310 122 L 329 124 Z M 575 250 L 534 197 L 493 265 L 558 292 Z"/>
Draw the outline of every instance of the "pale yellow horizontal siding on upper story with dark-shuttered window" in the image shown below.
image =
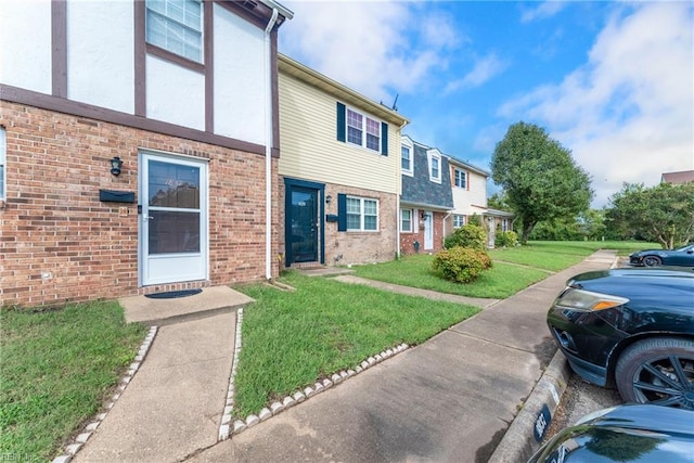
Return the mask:
<path fill-rule="evenodd" d="M 335 140 L 334 97 L 282 70 L 279 85 L 280 175 L 385 193 L 400 192 L 400 176 L 396 175 L 400 156 L 374 156 L 371 150 Z M 400 153 L 396 130 L 395 124 L 388 124 L 388 153 Z"/>

